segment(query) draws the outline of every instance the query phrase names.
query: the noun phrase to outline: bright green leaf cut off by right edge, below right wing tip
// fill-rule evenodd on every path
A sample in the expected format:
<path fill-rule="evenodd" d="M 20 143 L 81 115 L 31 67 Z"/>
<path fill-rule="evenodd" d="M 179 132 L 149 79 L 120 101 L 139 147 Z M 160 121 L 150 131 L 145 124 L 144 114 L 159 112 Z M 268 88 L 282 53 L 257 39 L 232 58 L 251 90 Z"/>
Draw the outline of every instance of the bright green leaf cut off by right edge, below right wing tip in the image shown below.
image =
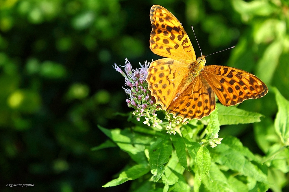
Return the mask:
<path fill-rule="evenodd" d="M 289 101 L 287 101 L 277 88 L 273 88 L 278 106 L 278 112 L 275 118 L 275 130 L 281 141 L 289 146 Z"/>

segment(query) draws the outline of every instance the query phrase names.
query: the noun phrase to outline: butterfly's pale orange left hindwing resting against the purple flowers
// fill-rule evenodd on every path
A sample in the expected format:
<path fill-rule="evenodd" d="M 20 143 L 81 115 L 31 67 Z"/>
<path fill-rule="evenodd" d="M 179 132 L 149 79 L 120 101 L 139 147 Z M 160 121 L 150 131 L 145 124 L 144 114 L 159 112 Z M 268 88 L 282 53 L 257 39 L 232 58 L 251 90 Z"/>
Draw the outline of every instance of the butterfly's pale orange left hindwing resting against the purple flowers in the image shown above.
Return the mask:
<path fill-rule="evenodd" d="M 153 61 L 148 69 L 149 90 L 166 110 L 177 93 L 182 79 L 188 74 L 188 64 L 174 59 L 164 58 Z"/>

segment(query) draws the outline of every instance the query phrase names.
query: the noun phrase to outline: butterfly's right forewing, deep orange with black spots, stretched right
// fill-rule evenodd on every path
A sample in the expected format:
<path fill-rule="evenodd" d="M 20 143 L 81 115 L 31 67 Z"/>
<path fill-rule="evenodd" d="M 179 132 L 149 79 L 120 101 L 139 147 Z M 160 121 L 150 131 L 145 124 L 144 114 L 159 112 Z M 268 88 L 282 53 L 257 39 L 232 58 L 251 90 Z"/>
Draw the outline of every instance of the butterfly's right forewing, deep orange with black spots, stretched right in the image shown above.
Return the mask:
<path fill-rule="evenodd" d="M 246 99 L 261 98 L 268 92 L 264 82 L 241 69 L 208 65 L 202 74 L 225 106 L 234 106 Z"/>

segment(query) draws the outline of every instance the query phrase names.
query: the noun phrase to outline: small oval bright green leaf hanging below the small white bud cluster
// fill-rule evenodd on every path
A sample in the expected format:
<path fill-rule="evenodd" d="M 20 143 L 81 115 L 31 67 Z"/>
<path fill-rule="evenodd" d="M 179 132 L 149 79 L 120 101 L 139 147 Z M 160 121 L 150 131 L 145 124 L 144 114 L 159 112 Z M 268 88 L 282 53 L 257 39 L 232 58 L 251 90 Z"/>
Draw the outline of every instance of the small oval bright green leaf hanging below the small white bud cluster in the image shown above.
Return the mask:
<path fill-rule="evenodd" d="M 200 178 L 204 178 L 209 170 L 211 165 L 211 157 L 209 150 L 206 147 L 201 146 L 197 152 L 197 165 L 199 167 Z"/>

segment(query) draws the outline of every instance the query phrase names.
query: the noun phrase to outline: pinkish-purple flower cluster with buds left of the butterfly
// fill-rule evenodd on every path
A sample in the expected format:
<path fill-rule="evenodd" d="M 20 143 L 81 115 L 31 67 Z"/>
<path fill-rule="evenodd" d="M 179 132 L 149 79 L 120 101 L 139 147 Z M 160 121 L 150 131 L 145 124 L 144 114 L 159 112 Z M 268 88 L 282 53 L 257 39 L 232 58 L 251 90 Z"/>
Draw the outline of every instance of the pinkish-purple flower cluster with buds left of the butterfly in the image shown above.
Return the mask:
<path fill-rule="evenodd" d="M 139 69 L 132 69 L 131 63 L 125 58 L 125 65 L 123 72 L 120 67 L 114 63 L 114 69 L 121 73 L 125 77 L 125 85 L 129 88 L 123 88 L 125 93 L 130 96 L 130 99 L 126 99 L 127 106 L 134 108 L 133 115 L 140 121 L 140 117 L 144 116 L 146 121 L 144 124 L 155 127 L 158 123 L 162 123 L 162 120 L 157 119 L 156 111 L 160 110 L 160 106 L 155 103 L 155 98 L 151 96 L 148 90 L 148 83 L 146 81 L 147 69 L 149 64 L 147 61 L 144 65 L 140 64 Z M 150 123 L 151 122 L 151 123 Z"/>

